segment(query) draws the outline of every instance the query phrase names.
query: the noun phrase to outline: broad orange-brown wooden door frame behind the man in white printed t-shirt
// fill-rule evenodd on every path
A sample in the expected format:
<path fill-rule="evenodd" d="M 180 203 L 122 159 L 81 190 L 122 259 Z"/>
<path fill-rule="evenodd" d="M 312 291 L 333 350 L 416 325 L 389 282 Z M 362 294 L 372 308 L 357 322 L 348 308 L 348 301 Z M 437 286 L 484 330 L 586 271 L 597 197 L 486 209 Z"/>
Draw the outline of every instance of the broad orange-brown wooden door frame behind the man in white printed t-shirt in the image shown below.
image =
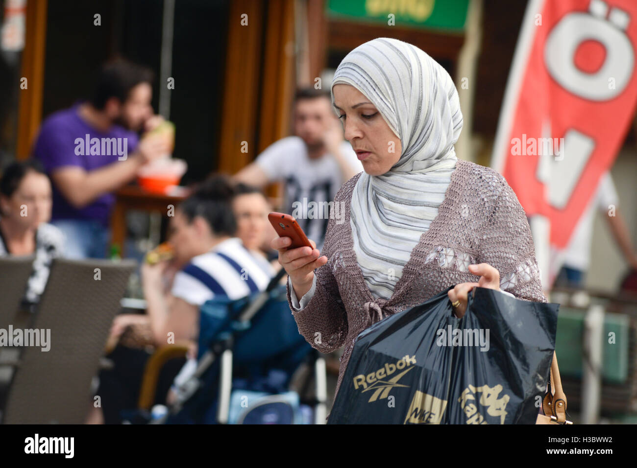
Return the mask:
<path fill-rule="evenodd" d="M 243 13 L 248 25 L 241 25 Z M 294 2 L 233 0 L 229 21 L 217 170 L 236 174 L 290 134 L 296 89 Z M 280 197 L 282 187 L 271 185 L 265 192 Z"/>

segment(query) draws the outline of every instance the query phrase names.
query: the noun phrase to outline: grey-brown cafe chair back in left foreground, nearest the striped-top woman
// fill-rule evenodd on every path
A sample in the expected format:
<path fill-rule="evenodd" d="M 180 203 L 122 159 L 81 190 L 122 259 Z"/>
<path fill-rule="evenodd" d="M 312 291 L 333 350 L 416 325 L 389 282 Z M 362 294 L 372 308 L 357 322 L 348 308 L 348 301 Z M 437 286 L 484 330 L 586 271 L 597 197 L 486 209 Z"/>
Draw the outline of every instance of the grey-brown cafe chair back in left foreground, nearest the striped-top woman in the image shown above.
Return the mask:
<path fill-rule="evenodd" d="M 92 379 L 135 267 L 134 260 L 54 260 L 32 325 L 45 341 L 47 330 L 50 336 L 22 349 L 3 423 L 85 422 L 97 402 Z"/>

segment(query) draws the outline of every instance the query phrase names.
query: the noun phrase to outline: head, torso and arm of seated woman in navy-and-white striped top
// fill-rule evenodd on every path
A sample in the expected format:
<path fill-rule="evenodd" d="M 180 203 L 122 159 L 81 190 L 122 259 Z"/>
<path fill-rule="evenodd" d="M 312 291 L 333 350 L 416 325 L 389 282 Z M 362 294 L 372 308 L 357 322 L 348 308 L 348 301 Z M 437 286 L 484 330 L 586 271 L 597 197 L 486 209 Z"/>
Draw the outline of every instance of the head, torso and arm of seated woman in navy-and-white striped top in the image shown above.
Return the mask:
<path fill-rule="evenodd" d="M 225 178 L 206 181 L 175 209 L 169 243 L 176 264 L 171 292 L 162 291 L 165 266 L 142 267 L 147 313 L 157 345 L 197 339 L 199 308 L 217 295 L 240 299 L 264 290 L 274 269 L 257 260 L 236 234 L 233 188 Z M 174 342 L 174 341 L 172 341 Z"/>

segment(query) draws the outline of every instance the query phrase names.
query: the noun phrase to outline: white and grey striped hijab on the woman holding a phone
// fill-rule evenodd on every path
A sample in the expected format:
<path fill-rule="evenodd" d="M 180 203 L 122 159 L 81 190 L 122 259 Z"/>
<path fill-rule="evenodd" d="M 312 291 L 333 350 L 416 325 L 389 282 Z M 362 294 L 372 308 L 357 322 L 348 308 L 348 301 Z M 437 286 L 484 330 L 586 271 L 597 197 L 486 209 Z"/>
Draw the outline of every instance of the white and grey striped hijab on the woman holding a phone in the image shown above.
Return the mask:
<path fill-rule="evenodd" d="M 400 159 L 387 173 L 362 174 L 350 208 L 362 274 L 373 295 L 389 299 L 450 183 L 462 129 L 458 93 L 427 53 L 390 38 L 373 39 L 347 54 L 334 73 L 333 101 L 337 83 L 364 94 L 401 141 Z"/>

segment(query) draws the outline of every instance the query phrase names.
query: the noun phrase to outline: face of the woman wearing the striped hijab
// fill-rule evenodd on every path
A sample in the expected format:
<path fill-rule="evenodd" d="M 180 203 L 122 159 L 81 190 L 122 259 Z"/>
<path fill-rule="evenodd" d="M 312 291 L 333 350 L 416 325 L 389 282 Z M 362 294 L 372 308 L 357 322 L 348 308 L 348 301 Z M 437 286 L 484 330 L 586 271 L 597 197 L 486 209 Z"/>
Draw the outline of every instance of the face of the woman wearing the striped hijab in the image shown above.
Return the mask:
<path fill-rule="evenodd" d="M 371 176 L 385 174 L 400 159 L 403 151 L 400 139 L 374 104 L 355 87 L 338 83 L 333 92 L 345 139 L 354 148 L 363 169 Z"/>

